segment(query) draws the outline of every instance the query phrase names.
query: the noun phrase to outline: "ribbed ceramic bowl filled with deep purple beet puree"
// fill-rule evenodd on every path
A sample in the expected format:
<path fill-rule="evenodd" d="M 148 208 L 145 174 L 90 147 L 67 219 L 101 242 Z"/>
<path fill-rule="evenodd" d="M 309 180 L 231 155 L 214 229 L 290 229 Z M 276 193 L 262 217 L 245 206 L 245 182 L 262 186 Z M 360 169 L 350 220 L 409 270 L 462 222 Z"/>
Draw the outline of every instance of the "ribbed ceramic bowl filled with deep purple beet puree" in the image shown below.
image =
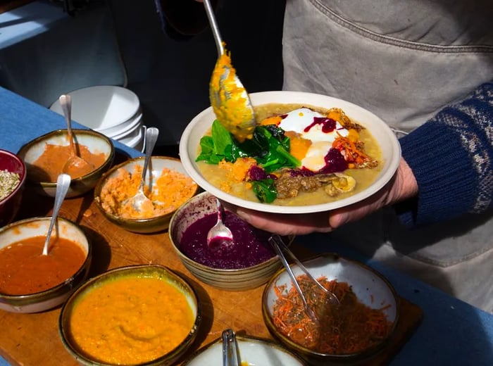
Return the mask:
<path fill-rule="evenodd" d="M 282 267 L 268 242 L 270 232 L 252 227 L 228 210 L 223 222 L 233 234 L 233 243 L 209 247 L 207 233 L 216 220 L 216 197 L 208 192 L 190 198 L 170 220 L 171 244 L 187 270 L 201 282 L 230 291 L 254 289 Z M 294 236 L 283 239 L 289 245 Z"/>

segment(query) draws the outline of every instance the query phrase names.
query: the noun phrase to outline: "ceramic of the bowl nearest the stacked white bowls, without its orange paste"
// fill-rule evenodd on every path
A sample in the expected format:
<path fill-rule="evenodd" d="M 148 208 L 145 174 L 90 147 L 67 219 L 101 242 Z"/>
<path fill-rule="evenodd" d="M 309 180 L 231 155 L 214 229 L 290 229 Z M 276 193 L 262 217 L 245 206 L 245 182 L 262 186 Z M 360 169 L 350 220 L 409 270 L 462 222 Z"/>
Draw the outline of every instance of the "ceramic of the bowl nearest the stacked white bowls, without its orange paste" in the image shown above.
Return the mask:
<path fill-rule="evenodd" d="M 113 164 L 115 158 L 115 148 L 111 139 L 92 130 L 73 130 L 75 142 L 87 146 L 91 153 L 104 153 L 106 160 L 103 165 L 96 168 L 87 175 L 72 179 L 67 192 L 67 198 L 81 196 L 94 188 L 101 175 Z M 48 132 L 32 141 L 27 142 L 18 152 L 18 156 L 24 160 L 27 167 L 27 185 L 35 189 L 40 194 L 54 197 L 56 194 L 55 182 L 41 182 L 33 177 L 33 163 L 42 155 L 46 144 L 67 146 L 69 145 L 67 130 L 56 130 Z"/>

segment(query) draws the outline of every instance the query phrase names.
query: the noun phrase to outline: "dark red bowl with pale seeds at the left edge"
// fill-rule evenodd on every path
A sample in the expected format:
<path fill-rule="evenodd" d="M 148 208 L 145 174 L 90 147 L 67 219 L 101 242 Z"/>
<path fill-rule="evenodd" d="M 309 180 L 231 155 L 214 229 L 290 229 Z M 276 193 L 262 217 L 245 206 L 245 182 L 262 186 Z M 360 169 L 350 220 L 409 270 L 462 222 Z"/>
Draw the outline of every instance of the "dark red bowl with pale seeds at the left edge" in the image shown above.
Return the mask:
<path fill-rule="evenodd" d="M 15 153 L 0 149 L 0 227 L 17 215 L 26 177 L 25 164 Z"/>

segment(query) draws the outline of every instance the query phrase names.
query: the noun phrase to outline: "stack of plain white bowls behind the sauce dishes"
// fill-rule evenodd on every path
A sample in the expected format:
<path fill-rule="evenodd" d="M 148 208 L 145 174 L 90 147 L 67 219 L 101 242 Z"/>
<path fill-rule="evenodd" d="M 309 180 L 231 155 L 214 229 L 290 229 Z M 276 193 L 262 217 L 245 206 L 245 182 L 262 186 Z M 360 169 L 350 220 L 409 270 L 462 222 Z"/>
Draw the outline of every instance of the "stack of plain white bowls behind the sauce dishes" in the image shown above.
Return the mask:
<path fill-rule="evenodd" d="M 67 93 L 72 97 L 72 120 L 139 151 L 144 150 L 145 129 L 137 95 L 124 87 L 101 85 Z M 63 115 L 60 101 L 51 111 Z"/>

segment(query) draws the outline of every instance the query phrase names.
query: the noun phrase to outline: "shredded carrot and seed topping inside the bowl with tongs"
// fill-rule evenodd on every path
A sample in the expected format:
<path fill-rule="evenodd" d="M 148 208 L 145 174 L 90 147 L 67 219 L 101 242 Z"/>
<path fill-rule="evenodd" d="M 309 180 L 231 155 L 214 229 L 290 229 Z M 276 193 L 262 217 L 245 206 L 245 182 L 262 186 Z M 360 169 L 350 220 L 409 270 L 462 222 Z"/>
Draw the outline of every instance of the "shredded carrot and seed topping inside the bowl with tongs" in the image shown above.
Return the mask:
<path fill-rule="evenodd" d="M 318 280 L 339 299 L 339 305 L 325 304 L 325 293 L 308 279 L 306 274 L 297 277 L 308 305 L 316 312 L 319 324 L 311 320 L 294 286 L 287 291 L 285 285 L 275 286 L 277 301 L 273 309 L 273 322 L 282 334 L 305 348 L 319 353 L 351 354 L 363 351 L 385 339 L 393 322 L 380 309 L 370 308 L 358 301 L 346 282 Z"/>

